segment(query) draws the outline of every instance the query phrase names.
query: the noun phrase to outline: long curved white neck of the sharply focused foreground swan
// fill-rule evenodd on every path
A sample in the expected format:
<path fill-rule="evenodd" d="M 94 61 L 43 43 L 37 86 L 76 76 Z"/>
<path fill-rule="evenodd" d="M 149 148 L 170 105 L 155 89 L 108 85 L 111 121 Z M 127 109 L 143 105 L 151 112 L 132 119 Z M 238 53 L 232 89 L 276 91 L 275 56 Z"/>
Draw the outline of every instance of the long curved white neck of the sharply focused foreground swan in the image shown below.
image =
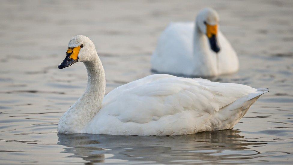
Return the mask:
<path fill-rule="evenodd" d="M 80 133 L 101 109 L 106 86 L 105 73 L 96 51 L 93 57 L 90 62 L 84 62 L 88 73 L 86 91 L 60 119 L 60 133 Z"/>

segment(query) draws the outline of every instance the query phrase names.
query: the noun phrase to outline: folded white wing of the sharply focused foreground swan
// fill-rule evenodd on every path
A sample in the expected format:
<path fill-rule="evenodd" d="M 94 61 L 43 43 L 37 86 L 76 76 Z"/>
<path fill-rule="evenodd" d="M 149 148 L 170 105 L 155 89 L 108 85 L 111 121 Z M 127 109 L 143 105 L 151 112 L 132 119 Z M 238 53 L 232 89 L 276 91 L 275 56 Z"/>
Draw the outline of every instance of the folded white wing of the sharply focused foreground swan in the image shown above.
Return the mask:
<path fill-rule="evenodd" d="M 114 116 L 123 123 L 148 123 L 186 111 L 213 114 L 255 91 L 241 84 L 156 74 L 112 90 L 96 117 Z"/>

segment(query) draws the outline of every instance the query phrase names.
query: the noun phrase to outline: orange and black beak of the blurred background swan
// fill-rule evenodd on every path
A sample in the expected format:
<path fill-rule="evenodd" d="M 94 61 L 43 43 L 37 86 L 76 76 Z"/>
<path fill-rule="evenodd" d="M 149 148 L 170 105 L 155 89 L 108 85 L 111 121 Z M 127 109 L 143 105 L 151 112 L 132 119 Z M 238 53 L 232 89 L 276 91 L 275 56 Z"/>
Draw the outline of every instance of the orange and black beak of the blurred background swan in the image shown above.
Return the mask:
<path fill-rule="evenodd" d="M 210 41 L 210 48 L 218 53 L 220 51 L 220 47 L 217 40 L 217 33 L 218 33 L 218 25 L 209 25 L 207 26 L 207 38 L 209 38 Z"/>

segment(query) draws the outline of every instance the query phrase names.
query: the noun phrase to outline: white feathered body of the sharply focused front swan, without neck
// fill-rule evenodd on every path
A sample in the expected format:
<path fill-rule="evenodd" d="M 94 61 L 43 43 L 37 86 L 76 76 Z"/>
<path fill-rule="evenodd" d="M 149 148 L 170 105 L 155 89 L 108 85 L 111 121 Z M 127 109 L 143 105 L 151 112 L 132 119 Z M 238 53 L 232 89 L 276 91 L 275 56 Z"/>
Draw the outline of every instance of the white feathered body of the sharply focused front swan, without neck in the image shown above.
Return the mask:
<path fill-rule="evenodd" d="M 108 93 L 101 110 L 83 132 L 182 135 L 231 129 L 242 118 L 239 114 L 245 102 L 226 110 L 227 114 L 221 108 L 256 92 L 240 84 L 150 75 Z"/>

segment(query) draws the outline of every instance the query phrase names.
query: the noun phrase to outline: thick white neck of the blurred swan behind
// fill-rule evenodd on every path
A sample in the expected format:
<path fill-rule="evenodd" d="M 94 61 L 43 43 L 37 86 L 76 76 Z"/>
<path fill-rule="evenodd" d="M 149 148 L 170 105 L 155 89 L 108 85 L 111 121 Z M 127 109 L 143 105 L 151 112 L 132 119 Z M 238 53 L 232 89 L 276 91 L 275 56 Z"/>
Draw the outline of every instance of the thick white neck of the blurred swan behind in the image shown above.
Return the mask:
<path fill-rule="evenodd" d="M 216 53 L 210 50 L 207 36 L 203 34 L 195 22 L 193 37 L 193 59 L 196 65 L 194 73 L 198 75 L 217 75 Z"/>

